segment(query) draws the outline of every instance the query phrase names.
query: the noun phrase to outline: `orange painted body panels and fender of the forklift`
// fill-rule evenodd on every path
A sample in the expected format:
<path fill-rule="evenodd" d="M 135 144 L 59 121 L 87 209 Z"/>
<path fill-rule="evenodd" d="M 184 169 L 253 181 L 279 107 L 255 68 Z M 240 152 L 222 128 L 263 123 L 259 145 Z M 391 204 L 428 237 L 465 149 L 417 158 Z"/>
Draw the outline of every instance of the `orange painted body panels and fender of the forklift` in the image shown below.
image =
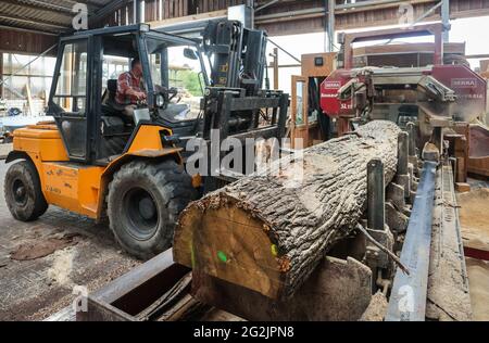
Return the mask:
<path fill-rule="evenodd" d="M 164 127 L 141 125 L 127 152 L 106 166 L 70 162 L 55 125 L 33 125 L 15 130 L 13 150 L 27 153 L 36 165 L 42 193 L 49 204 L 99 219 L 112 175 L 123 164 L 138 157 L 168 155 L 183 163 L 180 149 L 163 147 L 162 130 L 171 135 Z"/>

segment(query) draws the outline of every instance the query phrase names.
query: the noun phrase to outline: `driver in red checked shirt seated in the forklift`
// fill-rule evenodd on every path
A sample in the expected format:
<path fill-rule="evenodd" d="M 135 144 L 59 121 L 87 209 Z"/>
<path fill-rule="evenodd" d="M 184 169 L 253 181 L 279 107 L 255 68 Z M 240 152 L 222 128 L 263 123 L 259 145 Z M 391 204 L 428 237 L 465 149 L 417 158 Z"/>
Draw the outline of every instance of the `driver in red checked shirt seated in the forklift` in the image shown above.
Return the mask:
<path fill-rule="evenodd" d="M 118 76 L 115 101 L 124 106 L 124 116 L 133 118 L 138 101 L 145 101 L 146 99 L 141 61 L 139 61 L 139 58 L 135 58 L 130 62 L 130 71 Z"/>

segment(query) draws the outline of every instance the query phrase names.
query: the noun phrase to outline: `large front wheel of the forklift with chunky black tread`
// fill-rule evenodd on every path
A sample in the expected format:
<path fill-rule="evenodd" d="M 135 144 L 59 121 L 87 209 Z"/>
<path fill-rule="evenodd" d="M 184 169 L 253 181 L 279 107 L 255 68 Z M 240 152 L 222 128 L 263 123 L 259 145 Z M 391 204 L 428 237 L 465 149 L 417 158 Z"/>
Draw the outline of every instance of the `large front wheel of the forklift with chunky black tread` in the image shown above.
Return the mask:
<path fill-rule="evenodd" d="M 109 186 L 110 227 L 129 254 L 148 259 L 172 245 L 178 215 L 197 191 L 183 166 L 174 161 L 134 161 Z"/>

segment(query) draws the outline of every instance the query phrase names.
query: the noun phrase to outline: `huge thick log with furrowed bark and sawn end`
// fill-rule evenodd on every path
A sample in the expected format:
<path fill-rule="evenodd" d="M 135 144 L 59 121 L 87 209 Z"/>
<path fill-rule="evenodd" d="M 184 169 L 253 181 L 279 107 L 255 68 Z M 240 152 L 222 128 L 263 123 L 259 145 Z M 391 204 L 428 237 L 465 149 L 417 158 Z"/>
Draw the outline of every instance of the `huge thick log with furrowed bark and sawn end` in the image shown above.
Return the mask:
<path fill-rule="evenodd" d="M 400 129 L 371 122 L 354 134 L 309 148 L 191 203 L 180 215 L 175 262 L 256 291 L 288 298 L 366 209 L 366 166 L 397 169 Z M 297 175 L 303 172 L 301 182 Z"/>

